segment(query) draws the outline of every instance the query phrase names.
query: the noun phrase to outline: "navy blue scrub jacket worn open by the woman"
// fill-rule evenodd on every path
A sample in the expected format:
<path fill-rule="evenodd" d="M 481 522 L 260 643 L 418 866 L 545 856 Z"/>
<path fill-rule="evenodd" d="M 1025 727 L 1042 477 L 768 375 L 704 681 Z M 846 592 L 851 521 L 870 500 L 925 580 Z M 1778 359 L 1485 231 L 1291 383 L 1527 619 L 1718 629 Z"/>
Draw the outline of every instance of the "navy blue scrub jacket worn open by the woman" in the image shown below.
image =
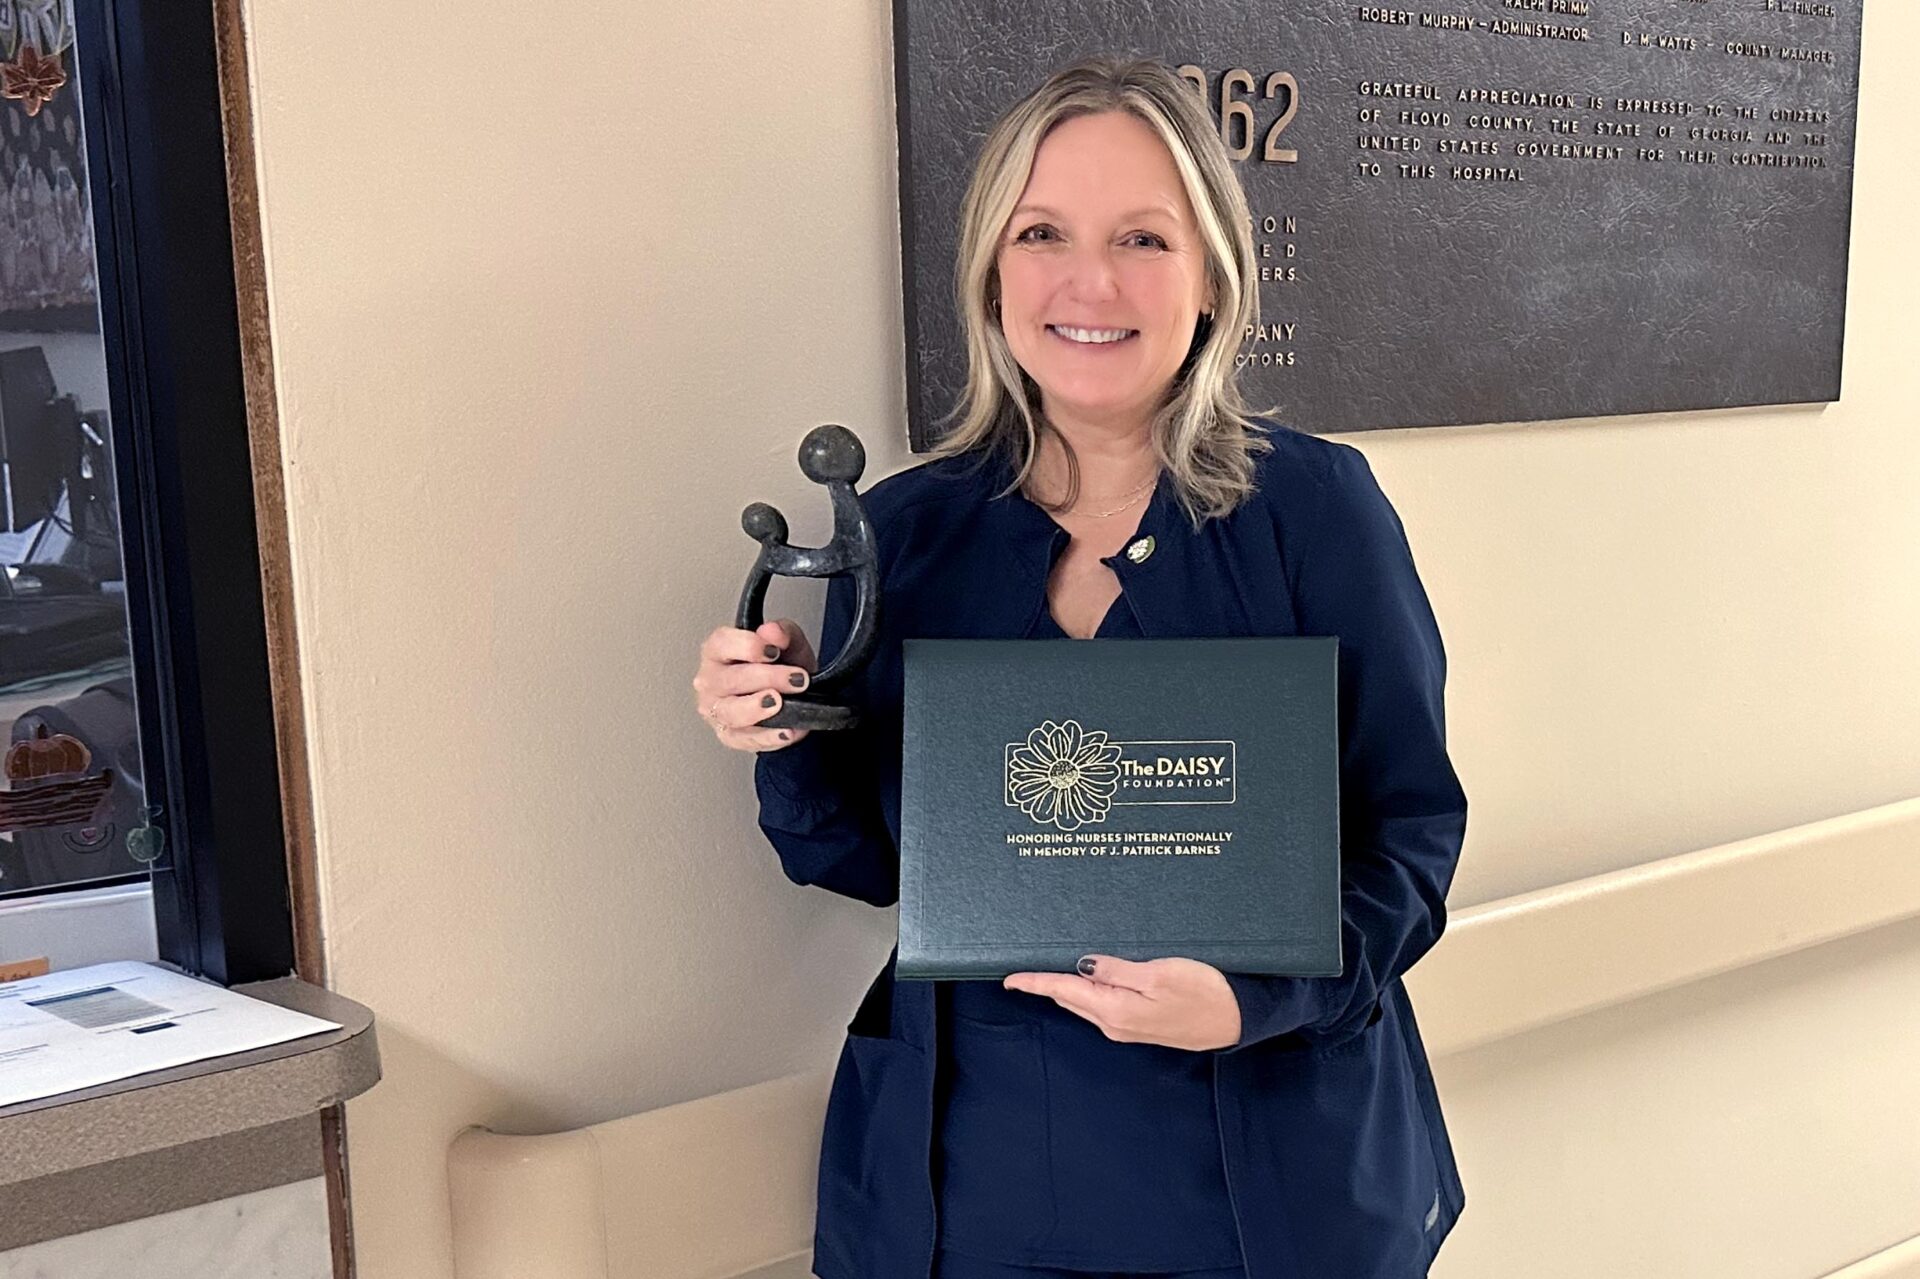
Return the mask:
<path fill-rule="evenodd" d="M 1340 638 L 1346 972 L 1227 974 L 1240 1041 L 1206 1056 L 1248 1279 L 1411 1279 L 1465 1206 L 1400 981 L 1446 926 L 1467 826 L 1446 753 L 1446 653 L 1365 455 L 1261 424 L 1275 447 L 1258 457 L 1252 499 L 1194 530 L 1162 476 L 1135 534 L 1154 538 L 1152 555 L 1102 563 L 1148 638 Z M 899 901 L 900 641 L 1021 638 L 1046 609 L 1069 536 L 1020 492 L 993 499 L 1006 471 L 975 463 L 922 463 L 864 494 L 883 603 L 879 649 L 847 693 L 862 724 L 755 764 L 760 828 L 795 883 Z M 851 580 L 833 578 L 822 653 L 851 618 Z M 847 1026 L 820 1148 L 820 1279 L 931 1271 L 933 995 L 931 981 L 895 981 L 889 956 Z"/>

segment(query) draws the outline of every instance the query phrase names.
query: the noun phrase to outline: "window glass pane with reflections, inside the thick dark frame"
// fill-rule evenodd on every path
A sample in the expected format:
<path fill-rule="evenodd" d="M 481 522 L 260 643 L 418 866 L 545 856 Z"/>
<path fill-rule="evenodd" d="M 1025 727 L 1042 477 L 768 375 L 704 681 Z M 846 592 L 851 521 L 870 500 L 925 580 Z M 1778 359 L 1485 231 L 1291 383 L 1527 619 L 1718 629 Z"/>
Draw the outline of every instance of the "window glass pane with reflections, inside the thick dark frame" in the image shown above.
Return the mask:
<path fill-rule="evenodd" d="M 0 897 L 144 881 L 148 824 L 71 17 L 0 0 Z M 19 96 L 13 96 L 13 94 Z"/>

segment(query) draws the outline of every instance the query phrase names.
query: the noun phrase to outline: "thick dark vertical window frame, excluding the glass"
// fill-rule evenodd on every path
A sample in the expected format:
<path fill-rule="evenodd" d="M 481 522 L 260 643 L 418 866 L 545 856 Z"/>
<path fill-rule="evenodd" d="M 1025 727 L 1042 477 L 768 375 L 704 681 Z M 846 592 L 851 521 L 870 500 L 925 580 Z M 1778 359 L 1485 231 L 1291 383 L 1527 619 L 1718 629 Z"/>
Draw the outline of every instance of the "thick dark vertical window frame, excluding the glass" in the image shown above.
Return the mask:
<path fill-rule="evenodd" d="M 294 972 L 215 8 L 75 0 L 159 956 Z M 273 463 L 276 465 L 276 459 Z"/>

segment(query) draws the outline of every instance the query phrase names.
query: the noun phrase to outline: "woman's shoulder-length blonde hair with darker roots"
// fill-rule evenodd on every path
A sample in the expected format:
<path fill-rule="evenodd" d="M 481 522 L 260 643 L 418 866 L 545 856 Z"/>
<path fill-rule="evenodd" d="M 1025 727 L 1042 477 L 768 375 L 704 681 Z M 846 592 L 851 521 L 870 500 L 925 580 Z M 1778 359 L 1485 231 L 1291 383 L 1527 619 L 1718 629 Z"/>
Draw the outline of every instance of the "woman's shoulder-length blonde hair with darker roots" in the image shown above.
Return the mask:
<path fill-rule="evenodd" d="M 1068 459 L 1068 494 L 1079 495 L 1079 459 L 1066 436 L 1044 419 L 1039 386 L 1014 359 L 1006 334 L 989 311 L 998 298 L 1000 236 L 1033 173 L 1033 156 L 1054 125 L 1075 115 L 1127 111 L 1144 121 L 1173 156 L 1187 188 L 1213 296 L 1213 319 L 1200 319 L 1194 350 L 1173 376 L 1167 401 L 1154 413 L 1152 442 L 1173 478 L 1175 495 L 1194 528 L 1223 517 L 1254 492 L 1254 455 L 1273 447 L 1265 426 L 1240 398 L 1235 357 L 1240 334 L 1260 319 L 1258 265 L 1246 192 L 1200 94 L 1185 79 L 1144 58 L 1096 56 L 1050 75 L 995 123 L 973 163 L 960 205 L 960 252 L 954 292 L 966 332 L 968 380 L 954 409 L 958 424 L 929 451 L 998 455 L 1014 480 L 1033 471 L 1043 432 L 1054 432 Z"/>

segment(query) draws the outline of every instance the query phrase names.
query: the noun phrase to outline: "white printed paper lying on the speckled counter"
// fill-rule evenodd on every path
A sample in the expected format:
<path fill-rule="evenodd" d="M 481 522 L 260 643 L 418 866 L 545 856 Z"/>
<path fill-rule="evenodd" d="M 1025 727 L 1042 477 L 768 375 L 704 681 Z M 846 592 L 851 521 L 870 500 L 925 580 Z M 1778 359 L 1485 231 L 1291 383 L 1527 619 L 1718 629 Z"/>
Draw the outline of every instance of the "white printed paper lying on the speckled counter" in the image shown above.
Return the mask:
<path fill-rule="evenodd" d="M 123 960 L 0 983 L 0 1106 L 340 1029 Z"/>

